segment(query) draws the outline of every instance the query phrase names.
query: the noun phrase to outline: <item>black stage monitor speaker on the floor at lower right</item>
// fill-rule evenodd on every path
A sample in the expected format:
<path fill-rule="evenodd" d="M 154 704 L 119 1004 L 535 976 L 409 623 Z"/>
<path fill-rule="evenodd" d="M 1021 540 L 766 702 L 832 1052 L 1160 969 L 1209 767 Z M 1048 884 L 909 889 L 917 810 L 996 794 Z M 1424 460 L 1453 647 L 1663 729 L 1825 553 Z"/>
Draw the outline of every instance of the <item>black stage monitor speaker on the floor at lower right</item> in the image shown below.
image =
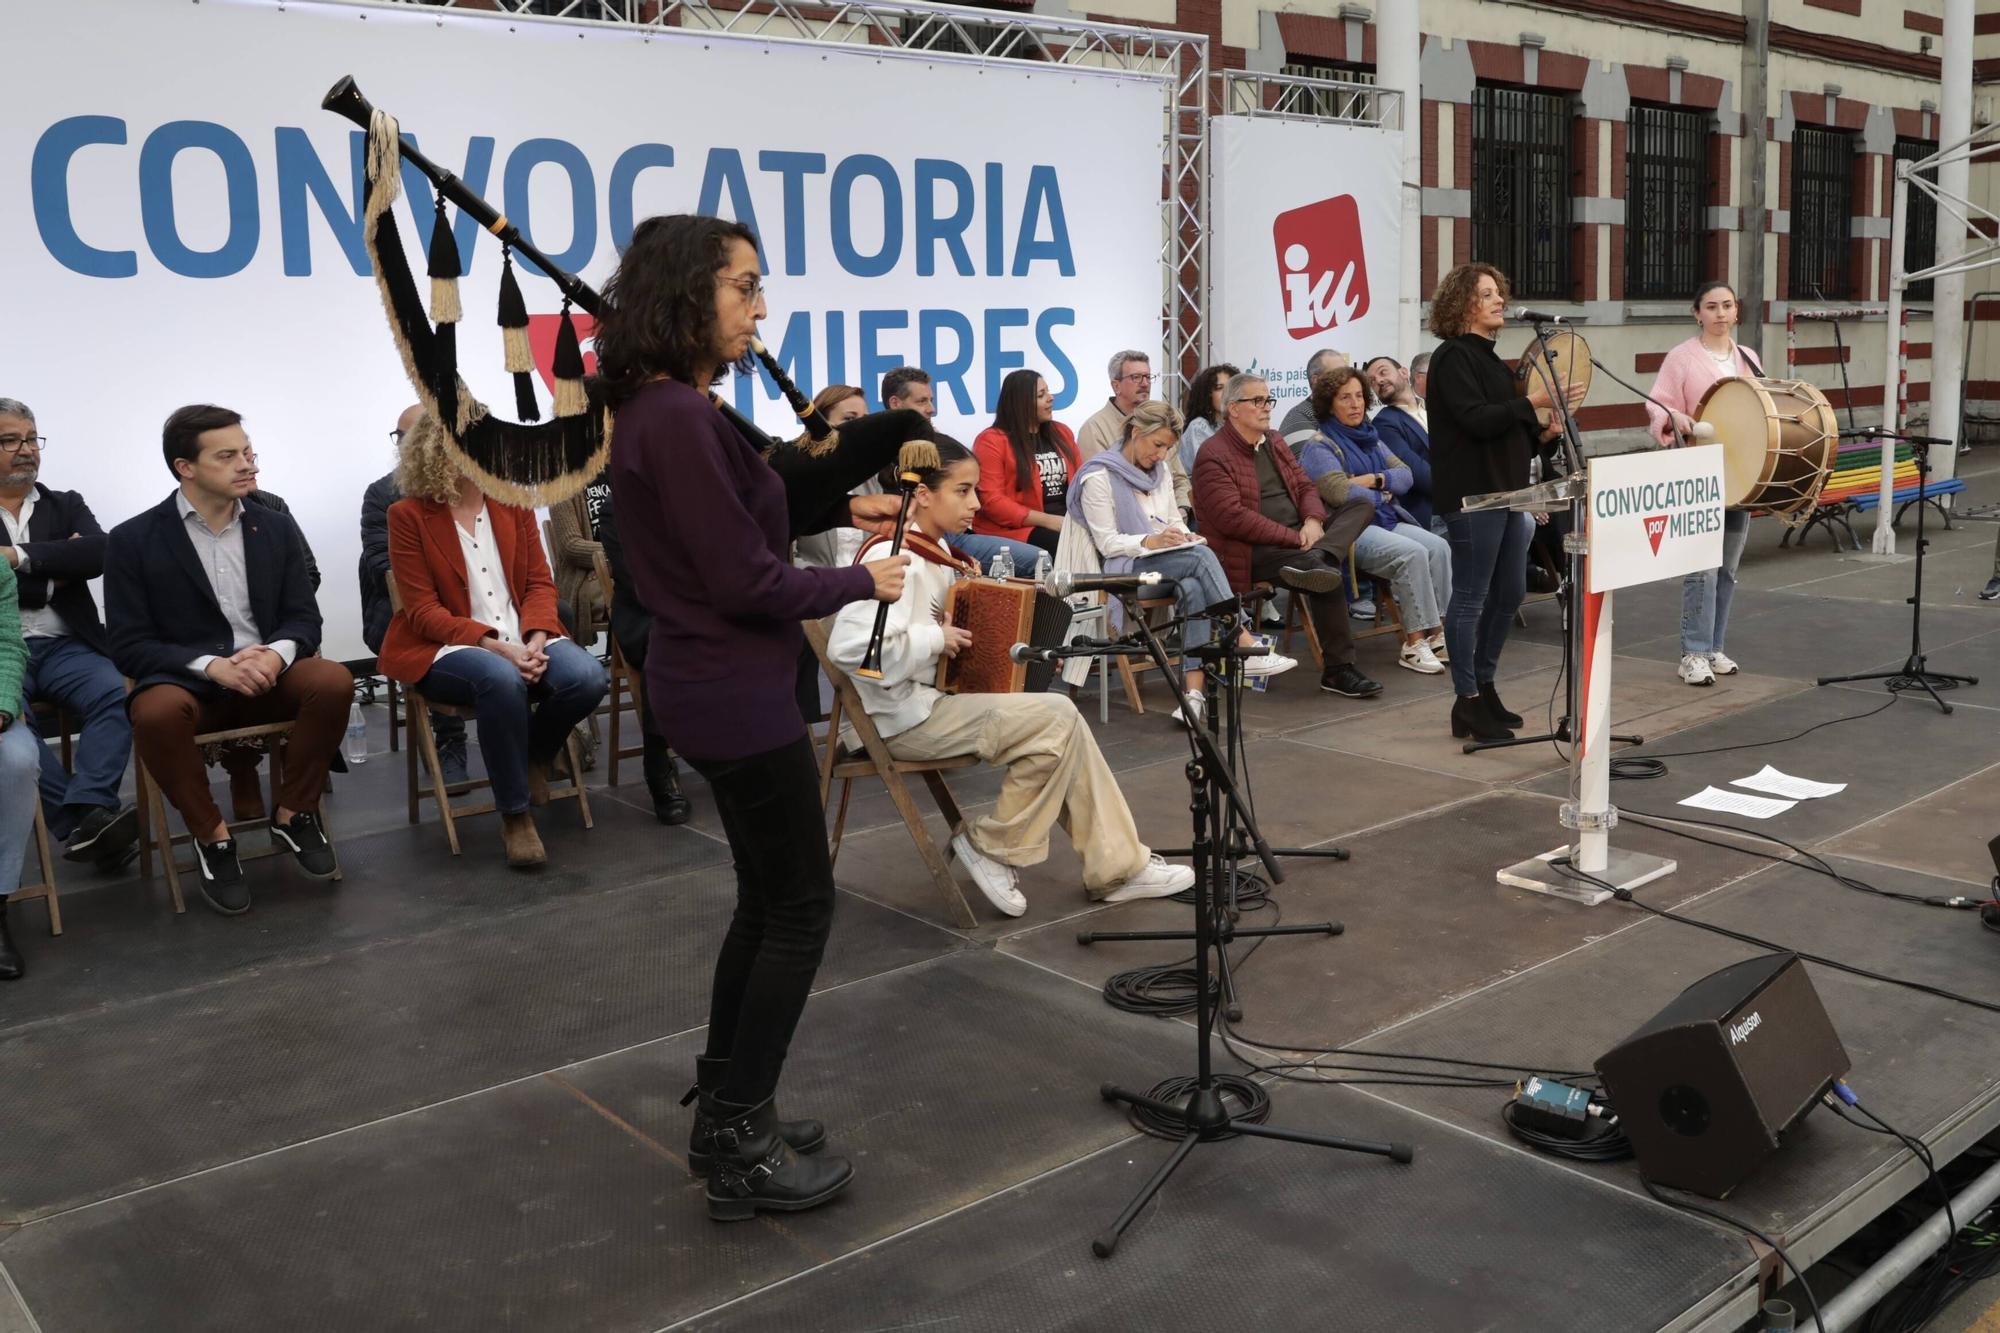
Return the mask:
<path fill-rule="evenodd" d="M 1852 1065 L 1794 953 L 1702 977 L 1598 1059 L 1654 1185 L 1726 1197 Z"/>

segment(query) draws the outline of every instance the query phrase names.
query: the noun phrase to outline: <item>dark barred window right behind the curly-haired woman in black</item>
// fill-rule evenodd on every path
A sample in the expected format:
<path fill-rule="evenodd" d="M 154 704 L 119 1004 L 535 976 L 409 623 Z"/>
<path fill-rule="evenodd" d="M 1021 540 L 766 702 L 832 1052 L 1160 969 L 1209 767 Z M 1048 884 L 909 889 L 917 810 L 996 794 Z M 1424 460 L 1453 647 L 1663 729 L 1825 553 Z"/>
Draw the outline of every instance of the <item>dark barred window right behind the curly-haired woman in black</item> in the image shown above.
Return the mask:
<path fill-rule="evenodd" d="M 1570 232 L 1570 100 L 1476 86 L 1472 258 L 1498 264 L 1518 296 L 1568 298 Z"/>

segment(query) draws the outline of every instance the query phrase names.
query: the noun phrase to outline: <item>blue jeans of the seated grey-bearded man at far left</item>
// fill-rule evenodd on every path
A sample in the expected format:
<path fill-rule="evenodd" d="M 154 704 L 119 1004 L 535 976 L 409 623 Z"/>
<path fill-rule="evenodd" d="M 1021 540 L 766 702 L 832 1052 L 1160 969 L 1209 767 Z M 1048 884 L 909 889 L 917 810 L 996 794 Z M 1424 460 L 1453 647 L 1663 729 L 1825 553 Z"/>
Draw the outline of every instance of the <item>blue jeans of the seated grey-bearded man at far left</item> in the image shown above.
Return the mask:
<path fill-rule="evenodd" d="M 118 809 L 118 785 L 132 759 L 132 719 L 124 711 L 124 677 L 82 638 L 30 638 L 20 693 L 52 703 L 82 725 L 76 773 L 62 771 L 54 747 L 42 747 L 42 817 L 54 839 L 68 839 L 92 807 Z M 22 711 L 30 719 L 32 711 Z"/>

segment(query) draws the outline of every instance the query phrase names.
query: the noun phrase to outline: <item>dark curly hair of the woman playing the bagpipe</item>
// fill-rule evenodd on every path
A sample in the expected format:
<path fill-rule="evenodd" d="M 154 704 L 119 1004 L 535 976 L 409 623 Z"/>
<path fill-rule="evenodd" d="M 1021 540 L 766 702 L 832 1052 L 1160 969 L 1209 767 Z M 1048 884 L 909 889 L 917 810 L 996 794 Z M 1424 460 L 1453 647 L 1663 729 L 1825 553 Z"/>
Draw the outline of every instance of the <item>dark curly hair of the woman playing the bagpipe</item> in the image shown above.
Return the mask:
<path fill-rule="evenodd" d="M 632 230 L 618 272 L 604 284 L 596 328 L 596 388 L 608 406 L 660 374 L 688 384 L 714 360 L 716 274 L 732 240 L 756 248 L 756 232 L 742 222 L 688 212 L 646 218 Z"/>

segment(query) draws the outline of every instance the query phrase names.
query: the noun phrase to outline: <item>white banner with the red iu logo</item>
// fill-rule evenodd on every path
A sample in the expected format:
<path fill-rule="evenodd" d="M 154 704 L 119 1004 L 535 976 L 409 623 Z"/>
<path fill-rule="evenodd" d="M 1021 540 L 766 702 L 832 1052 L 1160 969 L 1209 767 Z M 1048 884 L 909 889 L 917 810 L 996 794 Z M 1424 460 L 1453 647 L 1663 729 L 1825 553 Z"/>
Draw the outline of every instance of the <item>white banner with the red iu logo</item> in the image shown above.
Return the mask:
<path fill-rule="evenodd" d="M 1276 422 L 1308 394 L 1314 350 L 1396 352 L 1402 146 L 1362 126 L 1216 116 L 1210 152 L 1208 344 L 1270 378 Z"/>

